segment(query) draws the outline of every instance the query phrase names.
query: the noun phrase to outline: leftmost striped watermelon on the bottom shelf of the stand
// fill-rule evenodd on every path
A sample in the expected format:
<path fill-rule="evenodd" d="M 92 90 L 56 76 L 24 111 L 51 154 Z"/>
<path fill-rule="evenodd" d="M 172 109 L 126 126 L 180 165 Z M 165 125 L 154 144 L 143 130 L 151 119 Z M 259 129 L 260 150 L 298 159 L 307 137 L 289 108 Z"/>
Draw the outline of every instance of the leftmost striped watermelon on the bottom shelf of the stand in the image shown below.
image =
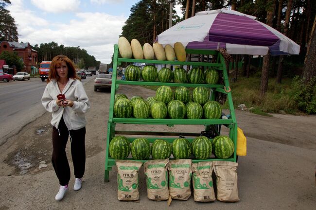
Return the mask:
<path fill-rule="evenodd" d="M 128 157 L 131 146 L 129 140 L 123 136 L 115 136 L 109 144 L 108 151 L 114 159 L 126 159 Z"/>

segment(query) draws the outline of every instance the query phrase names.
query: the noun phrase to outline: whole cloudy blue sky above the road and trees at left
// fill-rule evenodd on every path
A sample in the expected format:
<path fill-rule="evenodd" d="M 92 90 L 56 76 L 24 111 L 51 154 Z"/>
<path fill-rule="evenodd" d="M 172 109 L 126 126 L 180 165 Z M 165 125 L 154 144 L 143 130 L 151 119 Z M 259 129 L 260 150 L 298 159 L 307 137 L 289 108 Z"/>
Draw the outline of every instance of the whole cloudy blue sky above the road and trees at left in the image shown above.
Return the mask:
<path fill-rule="evenodd" d="M 6 9 L 16 21 L 19 42 L 80 46 L 108 64 L 130 9 L 138 1 L 11 0 Z M 179 15 L 179 5 L 176 11 Z"/>

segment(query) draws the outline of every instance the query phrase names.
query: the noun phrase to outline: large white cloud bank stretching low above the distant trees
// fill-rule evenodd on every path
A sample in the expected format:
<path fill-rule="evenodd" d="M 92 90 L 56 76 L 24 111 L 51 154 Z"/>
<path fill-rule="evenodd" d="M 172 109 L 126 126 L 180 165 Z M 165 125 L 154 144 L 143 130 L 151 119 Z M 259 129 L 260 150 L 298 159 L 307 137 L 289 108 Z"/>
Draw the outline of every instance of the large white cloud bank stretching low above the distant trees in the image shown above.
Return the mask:
<path fill-rule="evenodd" d="M 18 24 L 19 42 L 31 45 L 56 42 L 59 45 L 86 49 L 102 63 L 110 63 L 114 44 L 126 20 L 123 16 L 105 13 L 77 13 L 76 19 L 63 23 L 50 22 L 38 17 L 35 12 L 25 10 L 23 1 L 11 0 L 8 8 Z"/>

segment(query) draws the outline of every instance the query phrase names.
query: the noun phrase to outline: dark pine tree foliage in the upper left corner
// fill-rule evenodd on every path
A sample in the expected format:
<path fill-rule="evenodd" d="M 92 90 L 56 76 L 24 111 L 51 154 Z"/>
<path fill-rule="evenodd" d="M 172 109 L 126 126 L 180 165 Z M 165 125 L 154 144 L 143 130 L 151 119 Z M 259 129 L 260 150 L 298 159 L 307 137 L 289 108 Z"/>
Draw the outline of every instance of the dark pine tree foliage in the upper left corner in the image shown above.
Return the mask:
<path fill-rule="evenodd" d="M 0 0 L 0 41 L 18 41 L 18 28 L 10 11 L 4 9 L 10 0 Z"/>

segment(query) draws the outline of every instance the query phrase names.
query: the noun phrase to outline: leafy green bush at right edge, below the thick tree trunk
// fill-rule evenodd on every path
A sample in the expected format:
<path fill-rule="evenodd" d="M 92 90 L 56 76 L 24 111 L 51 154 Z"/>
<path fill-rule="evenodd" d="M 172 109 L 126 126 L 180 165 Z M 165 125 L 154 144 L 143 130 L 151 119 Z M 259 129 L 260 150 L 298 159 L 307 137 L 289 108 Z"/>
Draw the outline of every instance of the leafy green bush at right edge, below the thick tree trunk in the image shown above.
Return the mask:
<path fill-rule="evenodd" d="M 307 114 L 316 113 L 315 83 L 316 77 L 312 78 L 306 85 L 304 84 L 304 79 L 299 76 L 294 77 L 292 81 L 290 94 L 298 103 L 299 110 Z"/>

